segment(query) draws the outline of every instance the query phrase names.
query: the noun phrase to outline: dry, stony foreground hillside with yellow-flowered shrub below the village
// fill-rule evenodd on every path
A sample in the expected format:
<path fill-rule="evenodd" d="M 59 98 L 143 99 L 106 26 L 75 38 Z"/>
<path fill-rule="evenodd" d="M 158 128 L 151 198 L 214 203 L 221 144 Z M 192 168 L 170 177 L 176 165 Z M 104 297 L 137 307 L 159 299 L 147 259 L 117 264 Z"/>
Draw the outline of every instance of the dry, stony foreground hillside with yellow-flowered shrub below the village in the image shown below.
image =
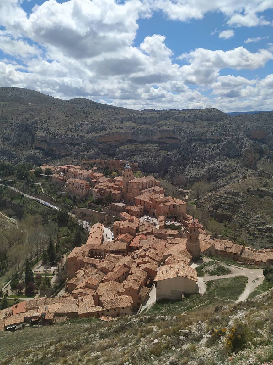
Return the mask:
<path fill-rule="evenodd" d="M 220 287 L 213 291 L 215 300 L 223 295 Z M 110 323 L 87 318 L 0 331 L 0 364 L 272 364 L 272 292 L 236 305 L 218 301 L 190 311 L 183 301 L 161 303 L 147 314 Z"/>

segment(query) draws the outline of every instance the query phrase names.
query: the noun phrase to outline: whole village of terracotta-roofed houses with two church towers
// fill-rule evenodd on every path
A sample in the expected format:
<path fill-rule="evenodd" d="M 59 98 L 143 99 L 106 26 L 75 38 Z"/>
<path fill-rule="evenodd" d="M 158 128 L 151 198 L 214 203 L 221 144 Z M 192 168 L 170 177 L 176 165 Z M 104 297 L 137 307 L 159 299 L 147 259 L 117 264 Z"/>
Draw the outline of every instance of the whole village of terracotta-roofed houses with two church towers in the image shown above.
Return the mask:
<path fill-rule="evenodd" d="M 93 166 L 90 170 L 86 167 Z M 115 169 L 120 176 L 98 172 Z M 234 262 L 272 265 L 273 250 L 254 250 L 231 241 L 212 239 L 197 219 L 186 213 L 187 203 L 165 196 L 153 176 L 135 177 L 137 164 L 127 161 L 92 160 L 83 166 L 51 169 L 52 180 L 66 184 L 68 191 L 94 199 L 111 195 L 109 211 L 115 217 L 113 234 L 95 223 L 85 245 L 67 257 L 68 280 L 62 297 L 21 301 L 0 312 L 0 329 L 23 323 L 52 324 L 66 318 L 98 317 L 110 321 L 137 314 L 155 290 L 156 300 L 182 300 L 184 294 L 205 291 L 192 267 L 200 257 L 228 257 Z M 171 228 L 169 222 L 173 222 Z M 201 280 L 200 280 L 201 279 Z"/>

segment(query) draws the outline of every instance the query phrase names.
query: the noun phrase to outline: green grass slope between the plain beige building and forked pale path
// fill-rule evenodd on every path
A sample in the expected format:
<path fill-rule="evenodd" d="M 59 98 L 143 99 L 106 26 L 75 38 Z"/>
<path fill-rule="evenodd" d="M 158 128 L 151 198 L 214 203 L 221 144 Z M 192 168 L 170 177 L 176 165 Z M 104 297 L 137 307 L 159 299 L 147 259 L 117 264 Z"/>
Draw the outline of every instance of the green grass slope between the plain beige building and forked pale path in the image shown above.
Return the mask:
<path fill-rule="evenodd" d="M 207 282 L 206 292 L 203 296 L 199 294 L 185 295 L 184 300 L 162 299 L 150 308 L 149 313 L 155 314 L 178 314 L 189 311 L 202 304 L 222 306 L 227 301 L 235 301 L 244 291 L 248 279 L 245 276 L 236 276 Z"/>

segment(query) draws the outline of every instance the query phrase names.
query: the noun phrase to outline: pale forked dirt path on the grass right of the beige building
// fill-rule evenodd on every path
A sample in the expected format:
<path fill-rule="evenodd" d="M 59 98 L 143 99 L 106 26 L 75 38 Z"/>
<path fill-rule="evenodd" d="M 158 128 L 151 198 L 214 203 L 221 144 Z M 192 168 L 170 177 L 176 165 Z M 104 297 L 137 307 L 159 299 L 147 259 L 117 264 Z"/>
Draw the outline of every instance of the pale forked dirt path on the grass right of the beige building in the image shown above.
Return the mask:
<path fill-rule="evenodd" d="M 211 261 L 211 260 L 209 258 L 204 258 L 204 261 Z M 246 300 L 249 294 L 253 292 L 253 290 L 256 289 L 257 286 L 261 284 L 262 281 L 264 280 L 264 275 L 262 274 L 263 269 L 240 268 L 239 266 L 236 265 L 226 265 L 223 262 L 219 263 L 225 266 L 226 268 L 230 269 L 232 273 L 220 276 L 203 276 L 203 280 L 206 282 L 210 280 L 218 280 L 239 275 L 246 276 L 248 278 L 248 282 L 246 284 L 245 290 L 239 296 L 236 303 Z"/>

